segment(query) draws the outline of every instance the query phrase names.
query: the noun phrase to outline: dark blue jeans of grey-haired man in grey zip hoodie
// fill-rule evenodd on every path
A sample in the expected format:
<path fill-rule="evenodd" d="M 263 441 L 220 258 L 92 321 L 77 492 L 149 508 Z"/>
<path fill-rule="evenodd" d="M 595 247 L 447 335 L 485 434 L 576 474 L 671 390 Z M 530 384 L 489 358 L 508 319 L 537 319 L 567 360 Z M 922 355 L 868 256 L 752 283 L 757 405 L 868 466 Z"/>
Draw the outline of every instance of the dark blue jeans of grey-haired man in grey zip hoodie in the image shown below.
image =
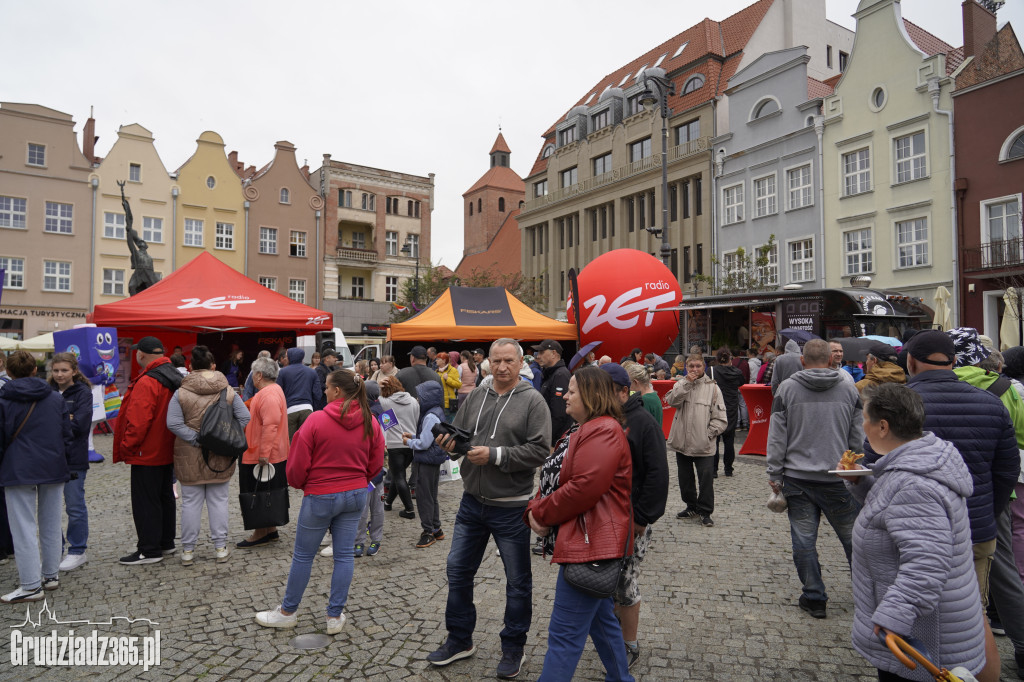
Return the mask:
<path fill-rule="evenodd" d="M 473 644 L 476 628 L 473 581 L 492 536 L 505 564 L 502 649 L 522 651 L 526 644 L 534 617 L 534 573 L 529 563 L 529 526 L 523 522 L 522 512 L 523 507 L 494 507 L 468 493 L 462 496 L 447 558 L 449 598 L 444 608 L 449 639 L 460 648 Z"/>

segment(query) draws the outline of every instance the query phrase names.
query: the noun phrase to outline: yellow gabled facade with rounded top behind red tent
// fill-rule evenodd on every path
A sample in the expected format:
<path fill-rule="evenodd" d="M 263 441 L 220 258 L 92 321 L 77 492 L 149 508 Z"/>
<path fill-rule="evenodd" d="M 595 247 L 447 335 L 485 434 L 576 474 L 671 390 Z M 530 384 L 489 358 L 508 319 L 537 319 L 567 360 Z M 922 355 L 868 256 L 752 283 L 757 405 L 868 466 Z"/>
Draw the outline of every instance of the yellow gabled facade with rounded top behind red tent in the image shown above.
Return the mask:
<path fill-rule="evenodd" d="M 245 272 L 246 214 L 242 180 L 234 172 L 224 140 L 207 130 L 196 140 L 196 152 L 177 171 L 181 187 L 175 267 L 181 267 L 203 251 Z"/>

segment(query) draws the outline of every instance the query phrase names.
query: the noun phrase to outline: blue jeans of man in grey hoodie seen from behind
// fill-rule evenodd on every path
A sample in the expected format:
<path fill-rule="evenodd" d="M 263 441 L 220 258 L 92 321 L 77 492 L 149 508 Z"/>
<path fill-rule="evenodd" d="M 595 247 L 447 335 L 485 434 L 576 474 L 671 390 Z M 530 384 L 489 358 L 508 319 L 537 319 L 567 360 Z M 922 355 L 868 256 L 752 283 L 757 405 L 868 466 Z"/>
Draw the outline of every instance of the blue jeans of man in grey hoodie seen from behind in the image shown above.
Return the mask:
<path fill-rule="evenodd" d="M 825 584 L 818 563 L 818 524 L 824 513 L 846 551 L 847 563 L 853 555 L 853 524 L 860 511 L 858 503 L 845 483 L 819 483 L 784 476 L 782 495 L 790 515 L 790 536 L 793 538 L 793 562 L 804 584 L 804 596 L 827 601 Z"/>

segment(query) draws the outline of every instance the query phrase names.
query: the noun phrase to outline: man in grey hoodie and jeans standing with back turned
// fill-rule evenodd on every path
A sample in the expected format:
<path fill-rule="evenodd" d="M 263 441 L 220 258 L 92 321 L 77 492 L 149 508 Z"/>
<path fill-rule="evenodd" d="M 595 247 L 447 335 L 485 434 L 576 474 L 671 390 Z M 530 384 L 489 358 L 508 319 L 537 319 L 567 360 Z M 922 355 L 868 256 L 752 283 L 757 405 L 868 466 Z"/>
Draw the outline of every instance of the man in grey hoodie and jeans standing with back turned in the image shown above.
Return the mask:
<path fill-rule="evenodd" d="M 804 369 L 778 386 L 768 427 L 768 484 L 785 496 L 793 562 L 804 585 L 800 607 L 816 619 L 825 617 L 828 600 L 816 548 L 821 514 L 849 561 L 860 509 L 828 471 L 838 468 L 844 451 L 860 450 L 864 441 L 860 396 L 829 369 L 829 355 L 825 341 L 813 339 L 804 345 Z"/>

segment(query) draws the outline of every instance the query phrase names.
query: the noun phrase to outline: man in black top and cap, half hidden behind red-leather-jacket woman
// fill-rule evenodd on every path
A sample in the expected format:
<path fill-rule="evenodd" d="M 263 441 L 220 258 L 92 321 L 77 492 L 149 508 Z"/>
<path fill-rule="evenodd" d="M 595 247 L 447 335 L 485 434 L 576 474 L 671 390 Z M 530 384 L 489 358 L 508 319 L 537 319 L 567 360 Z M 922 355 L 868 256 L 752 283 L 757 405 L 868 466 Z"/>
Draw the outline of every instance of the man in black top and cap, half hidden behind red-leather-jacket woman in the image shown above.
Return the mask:
<path fill-rule="evenodd" d="M 633 457 L 633 556 L 626 560 L 615 590 L 615 615 L 623 627 L 630 667 L 640 658 L 637 629 L 640 621 L 640 562 L 650 546 L 651 526 L 665 514 L 669 498 L 669 460 L 665 433 L 646 409 L 639 393 L 630 394 L 630 375 L 617 363 L 601 369 L 615 384 L 626 417 L 626 439 Z"/>

